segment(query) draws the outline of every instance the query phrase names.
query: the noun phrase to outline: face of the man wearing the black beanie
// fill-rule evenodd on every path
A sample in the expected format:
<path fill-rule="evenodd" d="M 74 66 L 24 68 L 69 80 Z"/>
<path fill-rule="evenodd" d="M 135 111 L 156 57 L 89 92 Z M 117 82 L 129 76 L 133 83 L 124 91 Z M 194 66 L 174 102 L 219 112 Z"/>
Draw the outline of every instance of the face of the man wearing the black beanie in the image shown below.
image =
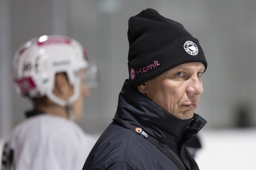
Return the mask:
<path fill-rule="evenodd" d="M 181 64 L 139 85 L 148 99 L 179 119 L 190 119 L 203 93 L 201 76 L 205 66 L 200 62 Z"/>

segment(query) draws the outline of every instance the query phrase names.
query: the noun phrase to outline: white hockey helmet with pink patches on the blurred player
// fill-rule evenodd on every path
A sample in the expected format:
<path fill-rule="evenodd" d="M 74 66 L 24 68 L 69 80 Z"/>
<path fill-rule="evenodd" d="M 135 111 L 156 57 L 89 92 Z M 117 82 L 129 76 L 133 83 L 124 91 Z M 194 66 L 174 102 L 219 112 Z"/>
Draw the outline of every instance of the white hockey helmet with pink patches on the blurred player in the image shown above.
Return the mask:
<path fill-rule="evenodd" d="M 13 78 L 18 94 L 31 98 L 47 96 L 60 106 L 72 104 L 79 96 L 78 72 L 88 67 L 84 48 L 75 39 L 43 35 L 23 44 L 13 60 Z M 65 72 L 74 94 L 64 101 L 53 94 L 55 74 Z"/>

